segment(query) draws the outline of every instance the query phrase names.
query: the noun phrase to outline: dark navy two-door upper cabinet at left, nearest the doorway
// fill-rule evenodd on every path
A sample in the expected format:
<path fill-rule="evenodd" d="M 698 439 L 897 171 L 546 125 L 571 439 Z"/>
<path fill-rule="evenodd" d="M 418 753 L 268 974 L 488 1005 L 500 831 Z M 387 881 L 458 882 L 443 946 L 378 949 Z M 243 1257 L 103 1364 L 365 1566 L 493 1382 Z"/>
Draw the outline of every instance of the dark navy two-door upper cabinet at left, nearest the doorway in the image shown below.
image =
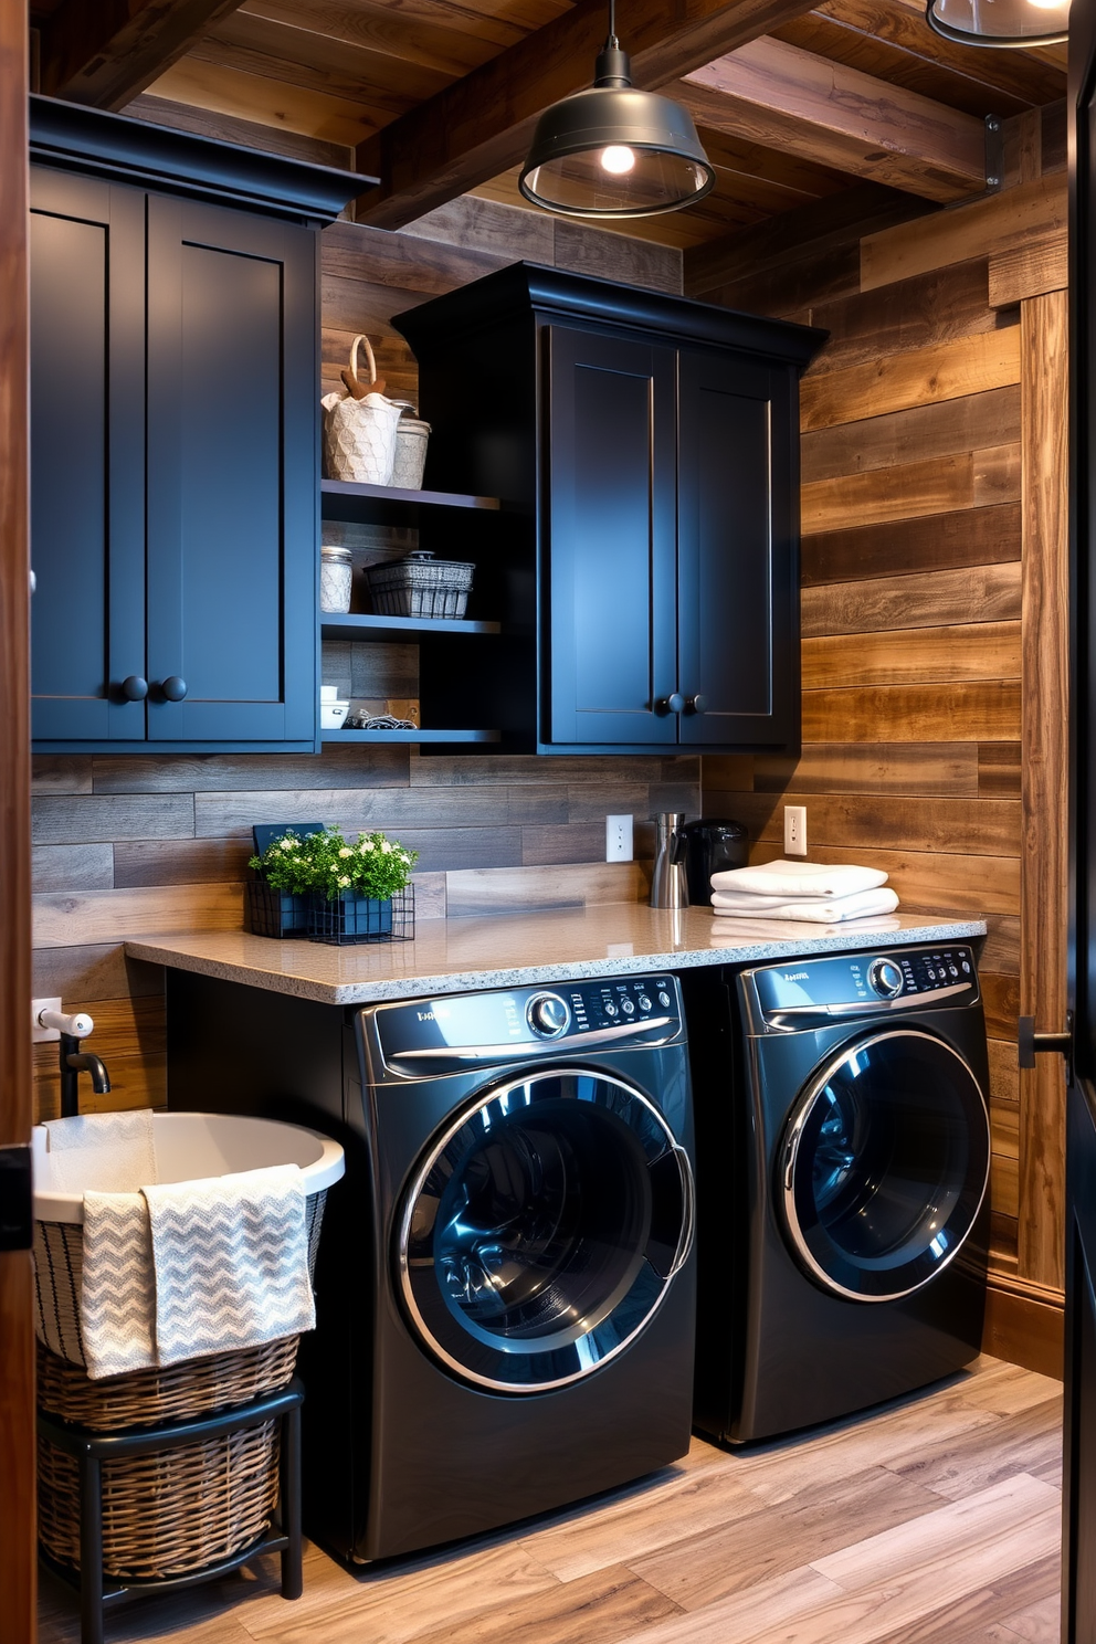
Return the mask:
<path fill-rule="evenodd" d="M 84 141 L 33 146 L 35 746 L 312 751 L 315 207 L 217 204 L 235 151 L 181 133 L 161 192 L 163 133 L 38 113 Z"/>

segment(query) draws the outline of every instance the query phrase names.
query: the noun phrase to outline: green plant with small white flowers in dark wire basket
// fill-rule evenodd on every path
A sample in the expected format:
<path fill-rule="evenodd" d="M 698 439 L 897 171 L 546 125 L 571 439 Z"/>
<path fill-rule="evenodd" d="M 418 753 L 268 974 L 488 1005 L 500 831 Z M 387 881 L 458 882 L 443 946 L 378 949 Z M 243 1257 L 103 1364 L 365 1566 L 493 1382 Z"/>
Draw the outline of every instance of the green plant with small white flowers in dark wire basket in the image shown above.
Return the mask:
<path fill-rule="evenodd" d="M 385 834 L 350 843 L 342 829 L 325 827 L 307 837 L 288 830 L 251 866 L 274 889 L 307 898 L 309 940 L 343 944 L 412 934 L 417 860 L 417 850 Z"/>

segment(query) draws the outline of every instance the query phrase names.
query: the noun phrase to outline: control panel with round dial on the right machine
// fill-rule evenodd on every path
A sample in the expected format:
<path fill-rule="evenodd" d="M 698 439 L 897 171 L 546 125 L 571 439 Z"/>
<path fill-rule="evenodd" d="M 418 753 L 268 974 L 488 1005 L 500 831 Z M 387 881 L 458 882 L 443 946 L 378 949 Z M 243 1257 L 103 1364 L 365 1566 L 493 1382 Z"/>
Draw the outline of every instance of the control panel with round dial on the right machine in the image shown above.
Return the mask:
<path fill-rule="evenodd" d="M 746 970 L 741 995 L 753 1032 L 787 1032 L 833 1018 L 973 1004 L 978 972 L 966 945 L 892 947 Z"/>

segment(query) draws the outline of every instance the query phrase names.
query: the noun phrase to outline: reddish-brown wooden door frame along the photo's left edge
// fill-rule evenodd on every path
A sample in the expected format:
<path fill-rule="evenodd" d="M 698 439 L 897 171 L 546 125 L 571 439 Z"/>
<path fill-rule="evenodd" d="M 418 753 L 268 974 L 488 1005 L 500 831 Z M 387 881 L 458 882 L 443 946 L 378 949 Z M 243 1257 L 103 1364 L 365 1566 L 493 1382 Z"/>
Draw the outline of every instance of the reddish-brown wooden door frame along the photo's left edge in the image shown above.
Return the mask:
<path fill-rule="evenodd" d="M 0 1148 L 30 1143 L 28 194 L 25 0 L 0 0 Z M 0 1253 L 0 1644 L 36 1634 L 31 1258 Z"/>

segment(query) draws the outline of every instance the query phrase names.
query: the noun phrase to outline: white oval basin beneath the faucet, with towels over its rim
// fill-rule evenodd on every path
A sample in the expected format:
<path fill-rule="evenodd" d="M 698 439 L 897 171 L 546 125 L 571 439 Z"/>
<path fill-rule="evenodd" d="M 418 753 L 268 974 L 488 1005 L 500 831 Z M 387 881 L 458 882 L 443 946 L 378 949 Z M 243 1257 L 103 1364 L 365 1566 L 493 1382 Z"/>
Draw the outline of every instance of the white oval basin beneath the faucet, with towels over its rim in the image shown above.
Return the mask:
<path fill-rule="evenodd" d="M 64 1124 L 66 1120 L 58 1123 Z M 79 1121 L 74 1121 L 79 1123 Z M 49 1154 L 49 1131 L 36 1124 L 35 1217 L 39 1221 L 82 1221 L 84 1194 L 113 1189 L 104 1174 L 104 1149 L 87 1149 L 87 1171 L 74 1174 L 79 1149 L 66 1148 L 66 1179 L 61 1187 Z M 237 1171 L 260 1171 L 271 1164 L 299 1164 L 304 1192 L 319 1194 L 345 1171 L 342 1148 L 330 1136 L 302 1124 L 276 1120 L 235 1118 L 222 1113 L 154 1113 L 153 1148 L 156 1182 L 189 1182 Z M 154 1185 L 154 1184 L 141 1184 Z"/>

